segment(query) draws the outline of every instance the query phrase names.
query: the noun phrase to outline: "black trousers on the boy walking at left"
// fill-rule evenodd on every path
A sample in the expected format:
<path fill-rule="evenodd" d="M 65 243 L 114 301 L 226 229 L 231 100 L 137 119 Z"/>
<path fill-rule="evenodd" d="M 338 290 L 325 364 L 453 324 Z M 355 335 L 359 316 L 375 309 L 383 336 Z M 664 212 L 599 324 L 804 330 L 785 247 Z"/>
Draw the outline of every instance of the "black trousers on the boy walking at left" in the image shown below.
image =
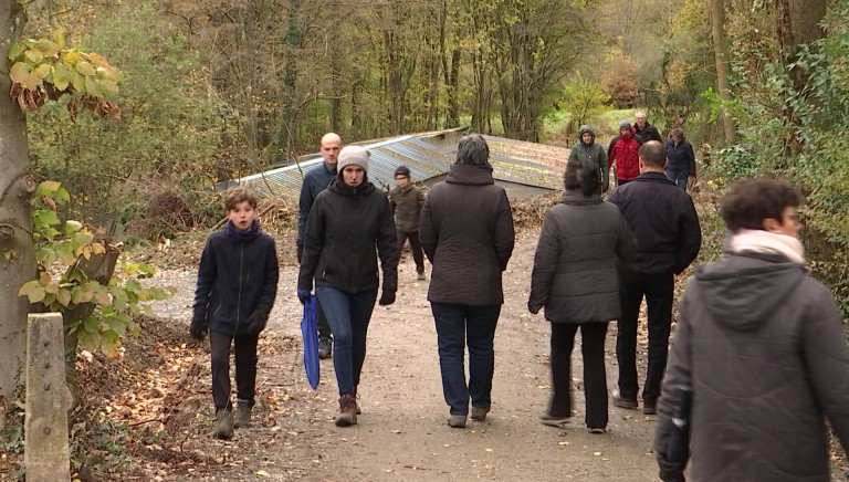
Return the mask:
<path fill-rule="evenodd" d="M 230 409 L 230 346 L 235 355 L 235 395 L 253 406 L 256 388 L 256 342 L 260 335 L 230 336 L 209 332 L 212 358 L 212 401 L 216 409 Z"/>

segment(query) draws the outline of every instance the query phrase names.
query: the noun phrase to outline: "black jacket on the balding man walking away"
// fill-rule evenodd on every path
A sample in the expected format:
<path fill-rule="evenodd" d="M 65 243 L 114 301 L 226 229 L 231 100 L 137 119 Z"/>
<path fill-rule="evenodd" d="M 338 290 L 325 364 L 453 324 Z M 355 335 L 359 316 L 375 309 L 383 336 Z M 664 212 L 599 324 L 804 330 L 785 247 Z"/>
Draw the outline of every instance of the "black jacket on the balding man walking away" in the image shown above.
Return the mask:
<path fill-rule="evenodd" d="M 637 239 L 635 273 L 679 274 L 699 255 L 702 228 L 690 196 L 662 172 L 644 172 L 608 198 Z"/>

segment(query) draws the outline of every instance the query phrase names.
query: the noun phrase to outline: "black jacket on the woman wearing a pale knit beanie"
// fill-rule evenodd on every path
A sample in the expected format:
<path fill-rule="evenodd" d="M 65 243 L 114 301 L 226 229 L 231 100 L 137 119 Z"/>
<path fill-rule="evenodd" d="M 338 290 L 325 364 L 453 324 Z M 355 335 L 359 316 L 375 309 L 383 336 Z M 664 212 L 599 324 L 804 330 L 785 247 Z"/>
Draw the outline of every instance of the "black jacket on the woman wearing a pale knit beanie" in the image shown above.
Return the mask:
<path fill-rule="evenodd" d="M 333 286 L 345 293 L 398 289 L 398 245 L 389 200 L 371 182 L 352 189 L 335 180 L 318 193 L 304 235 L 298 290 Z"/>

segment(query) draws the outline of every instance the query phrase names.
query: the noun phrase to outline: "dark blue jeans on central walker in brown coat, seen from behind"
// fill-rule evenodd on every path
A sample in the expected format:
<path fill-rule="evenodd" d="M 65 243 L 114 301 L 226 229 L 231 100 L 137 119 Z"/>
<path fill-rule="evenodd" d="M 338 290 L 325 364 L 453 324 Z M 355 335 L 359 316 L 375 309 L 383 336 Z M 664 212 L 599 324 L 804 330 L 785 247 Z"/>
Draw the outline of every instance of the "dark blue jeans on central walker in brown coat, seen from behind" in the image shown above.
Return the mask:
<path fill-rule="evenodd" d="M 473 306 L 430 303 L 437 324 L 442 394 L 451 415 L 469 415 L 473 407 L 492 404 L 492 374 L 495 369 L 493 338 L 501 305 Z M 469 346 L 469 385 L 465 384 L 465 346 Z"/>

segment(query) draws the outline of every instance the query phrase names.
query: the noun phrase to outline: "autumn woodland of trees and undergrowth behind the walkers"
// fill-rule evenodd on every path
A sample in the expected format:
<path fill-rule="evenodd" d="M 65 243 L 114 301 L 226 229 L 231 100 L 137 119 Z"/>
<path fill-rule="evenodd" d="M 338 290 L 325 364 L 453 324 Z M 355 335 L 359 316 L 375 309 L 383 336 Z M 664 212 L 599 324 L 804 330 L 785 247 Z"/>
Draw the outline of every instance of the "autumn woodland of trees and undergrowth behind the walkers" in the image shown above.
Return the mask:
<path fill-rule="evenodd" d="M 815 275 L 849 306 L 847 0 L 34 0 L 125 80 L 118 119 L 28 115 L 65 214 L 129 240 L 212 226 L 212 187 L 345 143 L 450 127 L 570 145 L 633 108 L 700 178 L 801 186 Z M 628 109 L 621 112 L 620 109 Z M 715 219 L 705 220 L 717 223 Z"/>

